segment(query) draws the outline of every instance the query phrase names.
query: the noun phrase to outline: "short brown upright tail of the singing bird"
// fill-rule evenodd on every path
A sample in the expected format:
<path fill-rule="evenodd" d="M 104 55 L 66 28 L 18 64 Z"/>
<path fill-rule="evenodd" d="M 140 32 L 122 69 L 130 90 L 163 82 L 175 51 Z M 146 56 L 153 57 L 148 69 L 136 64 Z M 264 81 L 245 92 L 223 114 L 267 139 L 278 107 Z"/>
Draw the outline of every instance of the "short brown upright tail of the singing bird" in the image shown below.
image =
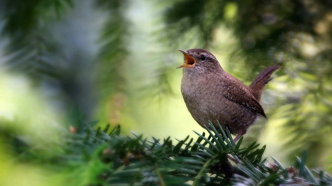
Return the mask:
<path fill-rule="evenodd" d="M 280 68 L 281 66 L 279 65 L 273 65 L 264 69 L 251 83 L 249 88 L 251 89 L 251 93 L 255 96 L 257 101 L 260 101 L 261 99 L 264 86 L 273 79 L 273 77 L 271 77 L 272 73 Z"/>

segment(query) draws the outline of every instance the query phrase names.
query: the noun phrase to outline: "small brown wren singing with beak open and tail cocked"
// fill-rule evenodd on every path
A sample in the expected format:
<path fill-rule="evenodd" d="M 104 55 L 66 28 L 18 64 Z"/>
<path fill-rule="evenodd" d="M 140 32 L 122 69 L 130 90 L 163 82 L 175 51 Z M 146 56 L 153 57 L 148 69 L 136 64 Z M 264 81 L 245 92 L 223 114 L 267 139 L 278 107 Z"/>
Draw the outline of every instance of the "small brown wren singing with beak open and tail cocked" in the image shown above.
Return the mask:
<path fill-rule="evenodd" d="M 179 50 L 184 55 L 181 93 L 193 118 L 204 126 L 210 120 L 216 128 L 219 121 L 237 141 L 254 124 L 257 117 L 266 115 L 259 104 L 264 86 L 280 69 L 274 65 L 264 69 L 247 87 L 223 70 L 218 60 L 204 49 Z"/>

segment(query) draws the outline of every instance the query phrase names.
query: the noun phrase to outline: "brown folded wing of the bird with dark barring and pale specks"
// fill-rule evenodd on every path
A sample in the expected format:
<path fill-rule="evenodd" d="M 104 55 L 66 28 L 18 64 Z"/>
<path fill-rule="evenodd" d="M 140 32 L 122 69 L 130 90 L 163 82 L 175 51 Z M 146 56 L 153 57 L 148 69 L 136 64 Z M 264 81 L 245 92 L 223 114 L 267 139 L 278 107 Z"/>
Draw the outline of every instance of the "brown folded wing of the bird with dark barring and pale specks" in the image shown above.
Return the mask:
<path fill-rule="evenodd" d="M 267 118 L 261 104 L 259 104 L 257 99 L 249 92 L 248 89 L 246 89 L 245 84 L 232 75 L 230 75 L 227 79 L 231 79 L 231 81 L 228 80 L 221 82 L 222 88 L 224 89 L 223 95 L 227 99 Z"/>

